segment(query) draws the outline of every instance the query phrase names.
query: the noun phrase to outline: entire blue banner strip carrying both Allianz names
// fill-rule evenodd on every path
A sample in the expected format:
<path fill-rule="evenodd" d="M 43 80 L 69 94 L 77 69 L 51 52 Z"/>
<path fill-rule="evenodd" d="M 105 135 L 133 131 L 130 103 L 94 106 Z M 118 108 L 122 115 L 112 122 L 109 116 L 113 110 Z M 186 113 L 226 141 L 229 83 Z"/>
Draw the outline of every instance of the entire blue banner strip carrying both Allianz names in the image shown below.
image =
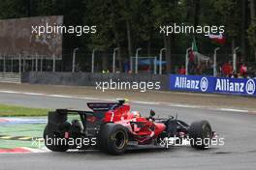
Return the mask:
<path fill-rule="evenodd" d="M 170 74 L 169 90 L 256 97 L 256 79 Z"/>

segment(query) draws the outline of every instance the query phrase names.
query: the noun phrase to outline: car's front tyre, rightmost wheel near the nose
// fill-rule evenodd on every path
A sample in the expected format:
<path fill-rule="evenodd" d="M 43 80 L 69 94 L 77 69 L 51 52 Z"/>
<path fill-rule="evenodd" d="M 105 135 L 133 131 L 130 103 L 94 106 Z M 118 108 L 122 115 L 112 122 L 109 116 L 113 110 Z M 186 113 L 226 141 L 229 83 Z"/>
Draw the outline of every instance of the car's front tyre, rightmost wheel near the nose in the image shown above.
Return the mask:
<path fill-rule="evenodd" d="M 190 145 L 196 149 L 208 149 L 212 131 L 208 121 L 194 122 L 189 128 Z"/>

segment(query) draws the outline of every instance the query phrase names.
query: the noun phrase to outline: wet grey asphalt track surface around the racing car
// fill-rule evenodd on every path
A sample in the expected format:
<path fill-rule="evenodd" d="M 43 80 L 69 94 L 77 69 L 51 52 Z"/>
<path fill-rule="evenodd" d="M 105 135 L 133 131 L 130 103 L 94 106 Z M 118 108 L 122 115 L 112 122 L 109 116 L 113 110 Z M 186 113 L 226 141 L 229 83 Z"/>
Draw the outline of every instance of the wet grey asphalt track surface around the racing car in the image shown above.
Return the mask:
<path fill-rule="evenodd" d="M 43 107 L 86 109 L 87 100 L 0 94 L 0 103 Z M 224 146 L 206 151 L 185 147 L 170 150 L 128 151 L 109 156 L 98 151 L 0 155 L 0 169 L 255 169 L 256 115 L 166 105 L 132 104 L 146 116 L 153 108 L 157 115 L 178 115 L 191 124 L 208 120 L 211 128 L 225 138 Z"/>

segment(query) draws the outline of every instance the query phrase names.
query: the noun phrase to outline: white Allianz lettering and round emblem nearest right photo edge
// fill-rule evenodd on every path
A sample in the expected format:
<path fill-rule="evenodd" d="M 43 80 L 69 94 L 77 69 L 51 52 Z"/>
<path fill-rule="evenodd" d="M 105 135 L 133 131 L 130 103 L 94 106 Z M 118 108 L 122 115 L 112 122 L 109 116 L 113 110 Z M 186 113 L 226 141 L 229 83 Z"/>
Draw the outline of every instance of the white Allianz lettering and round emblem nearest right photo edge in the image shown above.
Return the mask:
<path fill-rule="evenodd" d="M 238 92 L 253 95 L 256 90 L 255 82 L 253 79 L 248 79 L 245 82 L 234 82 L 230 79 L 217 78 L 215 91 L 222 92 Z"/>

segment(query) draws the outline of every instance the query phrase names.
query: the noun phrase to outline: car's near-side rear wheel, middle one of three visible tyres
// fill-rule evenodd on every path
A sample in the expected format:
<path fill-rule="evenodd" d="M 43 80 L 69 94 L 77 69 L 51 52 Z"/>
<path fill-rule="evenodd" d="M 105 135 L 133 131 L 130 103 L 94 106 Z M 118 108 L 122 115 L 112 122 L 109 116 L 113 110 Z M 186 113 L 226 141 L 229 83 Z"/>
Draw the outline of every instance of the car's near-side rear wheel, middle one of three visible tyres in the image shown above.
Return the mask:
<path fill-rule="evenodd" d="M 127 129 L 117 124 L 105 124 L 101 127 L 98 142 L 102 151 L 112 155 L 121 155 L 127 148 Z"/>

